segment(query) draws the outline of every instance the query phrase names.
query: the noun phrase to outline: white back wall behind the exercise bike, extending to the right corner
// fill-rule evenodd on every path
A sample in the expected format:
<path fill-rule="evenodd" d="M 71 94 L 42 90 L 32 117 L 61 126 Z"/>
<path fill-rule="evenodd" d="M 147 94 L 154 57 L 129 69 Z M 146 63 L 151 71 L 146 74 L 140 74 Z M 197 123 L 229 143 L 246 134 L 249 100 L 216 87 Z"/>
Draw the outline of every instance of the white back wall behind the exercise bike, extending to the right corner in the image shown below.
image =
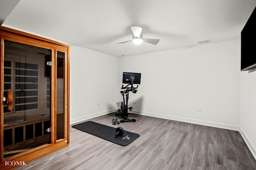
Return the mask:
<path fill-rule="evenodd" d="M 239 130 L 240 39 L 123 57 L 122 72 L 142 74 L 134 113 Z"/>

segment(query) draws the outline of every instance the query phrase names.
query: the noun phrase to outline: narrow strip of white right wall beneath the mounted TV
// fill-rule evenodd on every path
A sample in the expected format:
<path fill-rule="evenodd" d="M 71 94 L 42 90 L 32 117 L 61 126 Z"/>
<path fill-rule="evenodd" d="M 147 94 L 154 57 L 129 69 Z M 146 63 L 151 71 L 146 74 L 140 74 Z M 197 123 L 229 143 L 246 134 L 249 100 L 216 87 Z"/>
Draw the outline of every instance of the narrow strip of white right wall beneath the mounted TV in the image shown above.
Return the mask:
<path fill-rule="evenodd" d="M 256 158 L 256 69 L 240 74 L 240 133 Z"/>

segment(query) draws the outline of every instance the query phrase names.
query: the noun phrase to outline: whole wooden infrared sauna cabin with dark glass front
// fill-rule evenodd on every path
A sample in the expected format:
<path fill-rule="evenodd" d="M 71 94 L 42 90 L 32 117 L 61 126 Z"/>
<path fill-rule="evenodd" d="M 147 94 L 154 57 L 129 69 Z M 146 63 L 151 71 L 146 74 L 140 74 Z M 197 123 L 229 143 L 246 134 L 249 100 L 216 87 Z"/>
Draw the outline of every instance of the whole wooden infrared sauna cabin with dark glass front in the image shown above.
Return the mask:
<path fill-rule="evenodd" d="M 68 146 L 70 47 L 2 26 L 0 38 L 4 170 Z"/>

